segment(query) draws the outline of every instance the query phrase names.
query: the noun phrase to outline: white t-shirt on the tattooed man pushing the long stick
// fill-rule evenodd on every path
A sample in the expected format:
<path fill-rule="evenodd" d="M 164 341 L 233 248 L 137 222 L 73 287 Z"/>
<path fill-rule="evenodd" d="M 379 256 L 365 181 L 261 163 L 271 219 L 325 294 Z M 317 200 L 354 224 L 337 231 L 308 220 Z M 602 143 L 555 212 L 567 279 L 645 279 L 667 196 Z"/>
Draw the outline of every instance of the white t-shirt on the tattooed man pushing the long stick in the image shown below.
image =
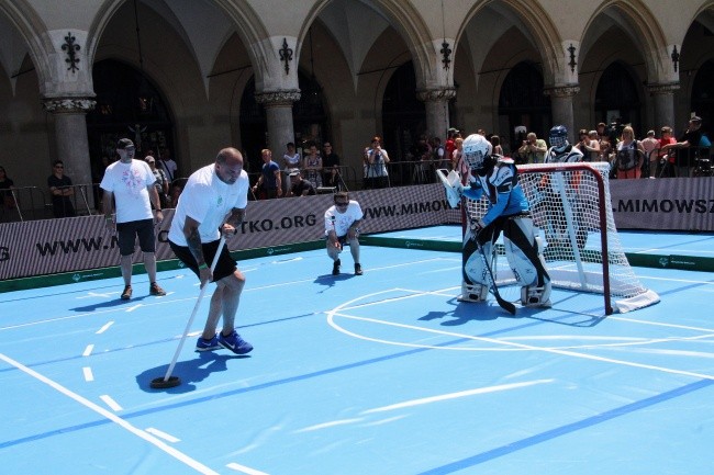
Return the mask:
<path fill-rule="evenodd" d="M 219 227 L 225 223 L 231 210 L 247 206 L 248 185 L 245 170 L 241 171 L 235 183 L 227 184 L 215 174 L 215 163 L 198 169 L 189 177 L 179 196 L 168 238 L 174 244 L 187 246 L 183 225 L 189 216 L 199 223 L 201 242 L 220 239 Z"/>

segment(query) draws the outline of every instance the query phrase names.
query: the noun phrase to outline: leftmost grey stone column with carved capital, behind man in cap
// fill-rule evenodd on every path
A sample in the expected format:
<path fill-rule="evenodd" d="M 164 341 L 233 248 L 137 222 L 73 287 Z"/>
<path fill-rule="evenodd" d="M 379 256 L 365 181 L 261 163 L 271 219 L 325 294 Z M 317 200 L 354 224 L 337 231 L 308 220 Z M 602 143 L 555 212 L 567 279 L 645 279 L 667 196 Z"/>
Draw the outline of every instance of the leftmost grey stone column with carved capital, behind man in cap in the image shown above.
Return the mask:
<path fill-rule="evenodd" d="M 55 142 L 57 159 L 65 162 L 65 174 L 74 184 L 86 184 L 87 202 L 94 210 L 92 193 L 91 160 L 87 139 L 87 112 L 94 109 L 97 102 L 89 98 L 52 98 L 45 99 L 45 111 L 55 120 Z M 85 212 L 85 201 L 77 196 L 77 212 Z"/>

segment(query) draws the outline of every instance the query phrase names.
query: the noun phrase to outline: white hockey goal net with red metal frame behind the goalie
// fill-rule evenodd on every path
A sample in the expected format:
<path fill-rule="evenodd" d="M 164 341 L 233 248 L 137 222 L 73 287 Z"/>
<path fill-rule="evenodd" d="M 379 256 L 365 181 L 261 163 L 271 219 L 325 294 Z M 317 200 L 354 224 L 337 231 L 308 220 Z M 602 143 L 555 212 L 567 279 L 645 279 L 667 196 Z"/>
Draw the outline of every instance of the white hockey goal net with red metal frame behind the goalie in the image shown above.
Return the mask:
<path fill-rule="evenodd" d="M 610 163 L 534 163 L 517 170 L 554 287 L 603 294 L 606 315 L 659 302 L 635 275 L 620 241 L 610 199 Z M 488 210 L 484 197 L 466 203 L 470 219 Z M 509 285 L 515 278 L 500 269 L 497 281 Z"/>

